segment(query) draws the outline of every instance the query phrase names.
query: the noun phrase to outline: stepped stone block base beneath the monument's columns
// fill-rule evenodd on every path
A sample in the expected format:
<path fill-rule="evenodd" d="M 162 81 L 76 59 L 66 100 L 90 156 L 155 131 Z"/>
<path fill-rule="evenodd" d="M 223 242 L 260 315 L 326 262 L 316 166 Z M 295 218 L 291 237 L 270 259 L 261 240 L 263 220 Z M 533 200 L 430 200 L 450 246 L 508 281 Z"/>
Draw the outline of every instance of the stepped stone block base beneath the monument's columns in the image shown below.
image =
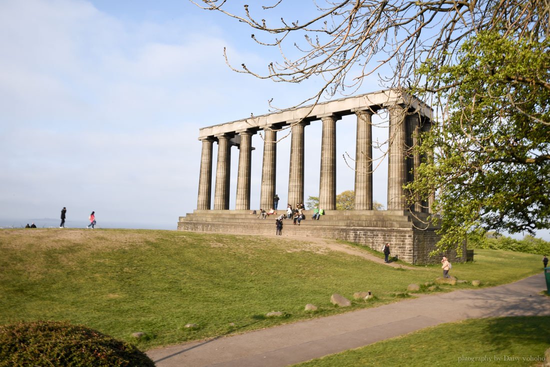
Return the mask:
<path fill-rule="evenodd" d="M 258 218 L 259 213 L 251 210 L 195 210 L 179 217 L 178 230 L 209 233 L 270 234 L 276 232 L 275 219 Z M 436 249 L 439 235 L 437 227 L 426 224 L 428 214 L 392 210 L 333 210 L 327 211 L 320 220 L 311 218 L 313 212 L 305 210 L 305 220 L 300 225 L 293 220 L 283 221 L 283 236 L 309 236 L 340 239 L 382 251 L 385 243 L 390 243 L 392 256 L 410 264 L 438 264 L 445 255 L 451 262 L 466 261 L 466 245 L 462 255 L 448 251 L 430 256 Z"/>

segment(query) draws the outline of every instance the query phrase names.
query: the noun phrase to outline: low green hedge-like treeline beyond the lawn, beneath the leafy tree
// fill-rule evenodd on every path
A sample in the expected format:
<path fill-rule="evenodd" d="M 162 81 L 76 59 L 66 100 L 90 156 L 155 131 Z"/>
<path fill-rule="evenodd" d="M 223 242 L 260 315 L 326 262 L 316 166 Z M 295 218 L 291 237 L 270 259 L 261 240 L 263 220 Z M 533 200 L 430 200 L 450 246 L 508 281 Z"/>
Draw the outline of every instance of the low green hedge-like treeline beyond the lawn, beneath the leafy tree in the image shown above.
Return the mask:
<path fill-rule="evenodd" d="M 517 251 L 537 255 L 550 254 L 550 242 L 526 235 L 523 239 L 514 239 L 493 232 L 486 234 L 472 234 L 467 239 L 469 249 L 492 249 Z"/>

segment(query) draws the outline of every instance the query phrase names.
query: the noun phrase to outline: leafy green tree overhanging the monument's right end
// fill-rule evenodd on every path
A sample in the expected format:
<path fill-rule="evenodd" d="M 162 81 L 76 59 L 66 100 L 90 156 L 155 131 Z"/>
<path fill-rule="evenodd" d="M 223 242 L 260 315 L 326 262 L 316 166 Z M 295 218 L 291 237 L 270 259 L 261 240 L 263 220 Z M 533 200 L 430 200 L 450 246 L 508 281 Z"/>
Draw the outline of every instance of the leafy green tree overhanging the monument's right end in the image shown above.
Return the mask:
<path fill-rule="evenodd" d="M 437 73 L 431 60 L 421 69 L 442 107 L 408 188 L 437 191 L 442 248 L 479 230 L 549 228 L 550 42 L 481 32 L 456 57 Z"/>

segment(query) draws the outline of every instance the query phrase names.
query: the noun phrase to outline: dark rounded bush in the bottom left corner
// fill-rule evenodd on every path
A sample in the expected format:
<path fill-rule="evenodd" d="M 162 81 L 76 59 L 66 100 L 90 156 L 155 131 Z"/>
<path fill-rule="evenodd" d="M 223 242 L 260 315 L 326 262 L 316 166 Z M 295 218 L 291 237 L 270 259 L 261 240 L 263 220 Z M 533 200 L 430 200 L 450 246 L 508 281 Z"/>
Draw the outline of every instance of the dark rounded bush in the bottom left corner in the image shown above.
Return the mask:
<path fill-rule="evenodd" d="M 0 326 L 0 367 L 145 366 L 155 363 L 131 344 L 59 321 Z"/>

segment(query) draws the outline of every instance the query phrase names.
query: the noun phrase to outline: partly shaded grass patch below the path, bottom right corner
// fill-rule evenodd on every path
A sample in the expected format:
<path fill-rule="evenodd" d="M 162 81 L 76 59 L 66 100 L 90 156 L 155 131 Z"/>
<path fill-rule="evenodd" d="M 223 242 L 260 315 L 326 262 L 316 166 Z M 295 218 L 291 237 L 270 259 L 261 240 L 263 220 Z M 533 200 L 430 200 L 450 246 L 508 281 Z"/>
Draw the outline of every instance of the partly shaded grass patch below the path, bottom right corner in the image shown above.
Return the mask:
<path fill-rule="evenodd" d="M 550 316 L 453 322 L 295 367 L 541 365 L 550 347 L 549 323 Z"/>

